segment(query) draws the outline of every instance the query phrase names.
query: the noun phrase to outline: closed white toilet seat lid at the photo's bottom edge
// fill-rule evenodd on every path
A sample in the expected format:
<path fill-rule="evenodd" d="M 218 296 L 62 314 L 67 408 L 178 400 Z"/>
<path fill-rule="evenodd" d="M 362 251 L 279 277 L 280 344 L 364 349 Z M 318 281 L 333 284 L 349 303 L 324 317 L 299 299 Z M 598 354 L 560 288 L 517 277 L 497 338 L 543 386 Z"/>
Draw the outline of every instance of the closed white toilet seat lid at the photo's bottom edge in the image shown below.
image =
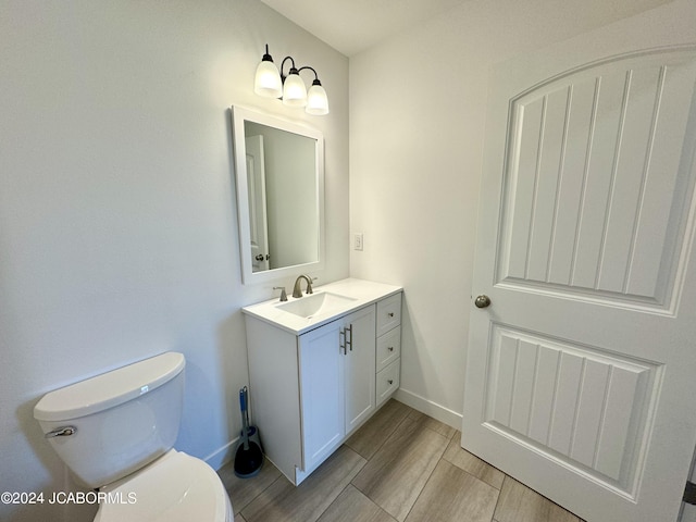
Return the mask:
<path fill-rule="evenodd" d="M 100 489 L 95 522 L 232 522 L 229 497 L 202 460 L 170 450 L 127 477 Z"/>

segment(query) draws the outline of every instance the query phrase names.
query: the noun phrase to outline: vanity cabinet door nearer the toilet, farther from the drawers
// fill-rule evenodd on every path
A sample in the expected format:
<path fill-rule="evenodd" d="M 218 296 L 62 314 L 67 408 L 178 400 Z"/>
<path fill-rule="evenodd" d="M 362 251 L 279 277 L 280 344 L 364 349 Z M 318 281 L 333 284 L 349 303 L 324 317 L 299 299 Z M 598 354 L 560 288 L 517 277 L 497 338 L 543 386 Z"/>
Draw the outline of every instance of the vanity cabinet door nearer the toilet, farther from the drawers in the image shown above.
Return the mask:
<path fill-rule="evenodd" d="M 302 470 L 321 462 L 345 435 L 341 326 L 334 321 L 299 337 Z"/>

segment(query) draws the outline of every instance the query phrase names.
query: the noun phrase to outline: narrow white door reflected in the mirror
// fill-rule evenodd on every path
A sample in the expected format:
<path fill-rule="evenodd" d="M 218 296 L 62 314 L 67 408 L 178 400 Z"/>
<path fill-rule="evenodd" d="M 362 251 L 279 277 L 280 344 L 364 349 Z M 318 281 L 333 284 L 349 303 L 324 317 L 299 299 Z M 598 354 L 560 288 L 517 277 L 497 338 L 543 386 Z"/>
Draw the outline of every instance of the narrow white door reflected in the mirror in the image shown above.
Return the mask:
<path fill-rule="evenodd" d="M 251 271 L 269 270 L 269 219 L 265 204 L 265 163 L 263 136 L 247 136 L 247 173 L 249 179 L 249 238 Z"/>

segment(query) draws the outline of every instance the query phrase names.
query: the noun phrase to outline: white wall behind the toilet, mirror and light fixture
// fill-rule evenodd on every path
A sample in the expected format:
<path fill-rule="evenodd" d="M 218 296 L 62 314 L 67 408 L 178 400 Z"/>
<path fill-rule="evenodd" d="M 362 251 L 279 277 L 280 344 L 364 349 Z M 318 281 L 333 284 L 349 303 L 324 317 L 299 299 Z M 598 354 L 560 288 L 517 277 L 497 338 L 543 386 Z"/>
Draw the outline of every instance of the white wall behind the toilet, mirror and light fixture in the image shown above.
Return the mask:
<path fill-rule="evenodd" d="M 231 104 L 320 128 L 327 261 L 348 276 L 348 60 L 257 0 L 2 0 L 0 492 L 75 490 L 33 419 L 44 393 L 186 355 L 177 448 L 219 464 L 248 382 Z M 327 116 L 252 92 L 263 45 L 320 73 Z M 227 448 L 229 449 L 229 448 Z M 0 519 L 94 507 L 0 505 Z"/>

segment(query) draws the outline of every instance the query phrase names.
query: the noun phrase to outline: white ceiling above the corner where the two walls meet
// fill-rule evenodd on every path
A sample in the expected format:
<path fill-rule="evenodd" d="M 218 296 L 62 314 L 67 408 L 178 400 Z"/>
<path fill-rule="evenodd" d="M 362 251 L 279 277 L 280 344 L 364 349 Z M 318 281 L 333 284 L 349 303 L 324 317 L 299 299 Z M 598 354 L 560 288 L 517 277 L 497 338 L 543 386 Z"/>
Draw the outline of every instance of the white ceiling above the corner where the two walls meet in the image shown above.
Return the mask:
<path fill-rule="evenodd" d="M 347 57 L 468 0 L 261 0 Z"/>

